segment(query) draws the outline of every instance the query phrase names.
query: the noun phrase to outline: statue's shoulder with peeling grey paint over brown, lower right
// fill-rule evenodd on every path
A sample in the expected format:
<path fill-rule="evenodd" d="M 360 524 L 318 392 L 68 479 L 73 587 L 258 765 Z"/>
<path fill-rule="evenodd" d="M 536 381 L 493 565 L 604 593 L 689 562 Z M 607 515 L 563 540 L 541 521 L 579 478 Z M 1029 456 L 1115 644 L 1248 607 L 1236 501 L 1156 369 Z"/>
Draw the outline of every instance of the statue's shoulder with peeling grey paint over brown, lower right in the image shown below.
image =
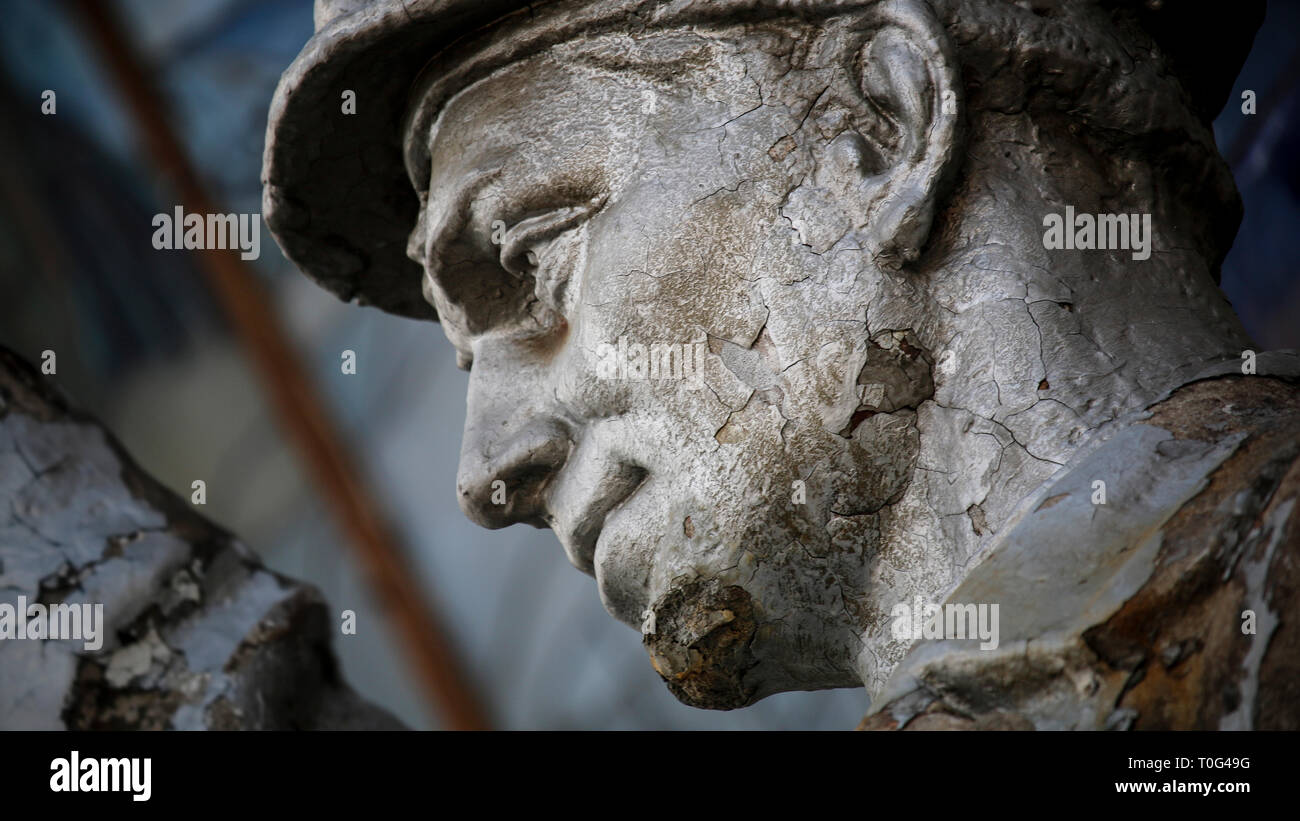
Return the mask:
<path fill-rule="evenodd" d="M 1294 364 L 1196 378 L 1062 469 L 948 596 L 1000 604 L 997 647 L 916 644 L 862 727 L 1300 729 Z"/>

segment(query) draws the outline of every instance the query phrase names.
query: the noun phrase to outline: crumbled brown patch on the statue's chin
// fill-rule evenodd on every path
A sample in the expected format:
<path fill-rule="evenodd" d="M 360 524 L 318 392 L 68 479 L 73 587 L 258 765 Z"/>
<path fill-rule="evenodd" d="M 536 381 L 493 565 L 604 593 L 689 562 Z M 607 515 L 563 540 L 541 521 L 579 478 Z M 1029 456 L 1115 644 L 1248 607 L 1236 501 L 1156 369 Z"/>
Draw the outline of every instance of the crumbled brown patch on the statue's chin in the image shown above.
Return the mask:
<path fill-rule="evenodd" d="M 736 709 L 760 698 L 751 674 L 757 665 L 750 650 L 754 604 L 742 587 L 696 579 L 672 588 L 650 609 L 645 647 L 679 700 Z"/>

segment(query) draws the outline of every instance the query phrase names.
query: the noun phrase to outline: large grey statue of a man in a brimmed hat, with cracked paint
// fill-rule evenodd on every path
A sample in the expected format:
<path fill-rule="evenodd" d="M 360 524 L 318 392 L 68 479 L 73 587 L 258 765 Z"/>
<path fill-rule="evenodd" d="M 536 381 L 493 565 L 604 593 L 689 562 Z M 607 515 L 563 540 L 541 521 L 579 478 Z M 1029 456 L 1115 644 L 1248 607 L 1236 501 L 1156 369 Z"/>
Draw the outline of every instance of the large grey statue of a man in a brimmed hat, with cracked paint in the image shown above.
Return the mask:
<path fill-rule="evenodd" d="M 1195 4 L 1192 4 L 1195 5 Z M 471 369 L 682 701 L 1296 727 L 1300 377 L 1217 287 L 1261 3 L 318 0 L 264 213 Z"/>

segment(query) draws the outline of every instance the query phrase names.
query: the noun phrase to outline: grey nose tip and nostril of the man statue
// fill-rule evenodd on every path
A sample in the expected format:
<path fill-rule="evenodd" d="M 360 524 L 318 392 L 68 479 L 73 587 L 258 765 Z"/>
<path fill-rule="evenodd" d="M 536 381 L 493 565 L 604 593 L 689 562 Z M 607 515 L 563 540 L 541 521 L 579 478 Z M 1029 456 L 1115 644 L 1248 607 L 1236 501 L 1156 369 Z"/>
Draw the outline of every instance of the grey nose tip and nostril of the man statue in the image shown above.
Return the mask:
<path fill-rule="evenodd" d="M 568 430 L 552 420 L 532 422 L 504 442 L 467 434 L 456 477 L 460 509 L 482 527 L 545 527 L 545 491 L 569 449 Z"/>

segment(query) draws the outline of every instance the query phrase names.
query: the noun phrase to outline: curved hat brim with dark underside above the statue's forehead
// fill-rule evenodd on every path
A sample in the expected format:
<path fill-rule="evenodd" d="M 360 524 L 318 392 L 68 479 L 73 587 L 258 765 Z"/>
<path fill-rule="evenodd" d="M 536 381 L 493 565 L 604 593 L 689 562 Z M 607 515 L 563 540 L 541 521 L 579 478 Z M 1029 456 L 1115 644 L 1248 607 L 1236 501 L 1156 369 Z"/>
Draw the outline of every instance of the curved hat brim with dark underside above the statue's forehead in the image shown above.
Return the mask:
<path fill-rule="evenodd" d="M 523 0 L 365 5 L 320 27 L 281 77 L 263 155 L 263 216 L 298 268 L 347 301 L 437 320 L 406 255 L 419 200 L 402 153 L 411 84 L 429 58 Z M 343 113 L 343 92 L 356 95 Z"/>

